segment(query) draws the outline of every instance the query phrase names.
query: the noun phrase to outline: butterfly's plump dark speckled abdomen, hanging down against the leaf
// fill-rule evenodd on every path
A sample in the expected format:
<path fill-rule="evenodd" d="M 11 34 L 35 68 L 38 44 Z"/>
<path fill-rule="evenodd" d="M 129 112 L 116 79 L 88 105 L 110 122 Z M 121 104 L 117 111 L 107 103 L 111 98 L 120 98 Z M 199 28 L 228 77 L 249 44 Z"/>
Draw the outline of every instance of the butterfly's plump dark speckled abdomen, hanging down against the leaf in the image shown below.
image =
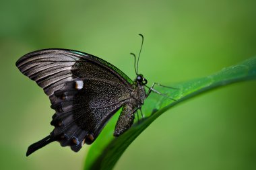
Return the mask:
<path fill-rule="evenodd" d="M 114 136 L 120 136 L 131 127 L 134 120 L 134 113 L 137 112 L 137 110 L 138 108 L 133 108 L 130 104 L 123 106 L 123 110 L 117 120 Z"/>

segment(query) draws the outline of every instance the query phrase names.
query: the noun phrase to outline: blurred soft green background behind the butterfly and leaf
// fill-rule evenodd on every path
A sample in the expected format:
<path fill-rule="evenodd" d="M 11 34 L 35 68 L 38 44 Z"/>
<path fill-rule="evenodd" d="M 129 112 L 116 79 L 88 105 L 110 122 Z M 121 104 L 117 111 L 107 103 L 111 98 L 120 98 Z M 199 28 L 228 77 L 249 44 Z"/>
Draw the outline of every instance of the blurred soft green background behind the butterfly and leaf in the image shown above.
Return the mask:
<path fill-rule="evenodd" d="M 256 1 L 0 2 L 0 169 L 82 169 L 79 153 L 49 144 L 54 111 L 48 97 L 15 67 L 42 48 L 100 56 L 131 78 L 153 83 L 203 77 L 256 54 Z M 190 99 L 156 120 L 129 146 L 115 169 L 256 169 L 256 83 L 223 87 Z"/>

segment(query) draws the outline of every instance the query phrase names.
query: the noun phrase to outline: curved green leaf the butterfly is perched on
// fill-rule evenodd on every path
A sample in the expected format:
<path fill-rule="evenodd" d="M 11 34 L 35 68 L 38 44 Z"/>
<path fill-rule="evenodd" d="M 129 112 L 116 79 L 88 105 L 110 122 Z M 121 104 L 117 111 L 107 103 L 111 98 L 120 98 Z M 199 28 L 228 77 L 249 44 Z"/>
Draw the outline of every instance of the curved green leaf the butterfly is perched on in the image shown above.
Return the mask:
<path fill-rule="evenodd" d="M 127 132 L 117 138 L 113 136 L 113 131 L 119 114 L 115 114 L 102 134 L 90 147 L 86 155 L 84 169 L 113 169 L 129 144 L 158 116 L 177 103 L 216 87 L 251 79 L 256 79 L 256 57 L 245 60 L 238 65 L 224 68 L 214 75 L 172 85 L 178 89 L 156 87 L 158 91 L 176 99 L 176 101 L 162 95 L 150 95 L 143 105 L 143 114 L 146 114 L 147 117 L 135 122 Z"/>

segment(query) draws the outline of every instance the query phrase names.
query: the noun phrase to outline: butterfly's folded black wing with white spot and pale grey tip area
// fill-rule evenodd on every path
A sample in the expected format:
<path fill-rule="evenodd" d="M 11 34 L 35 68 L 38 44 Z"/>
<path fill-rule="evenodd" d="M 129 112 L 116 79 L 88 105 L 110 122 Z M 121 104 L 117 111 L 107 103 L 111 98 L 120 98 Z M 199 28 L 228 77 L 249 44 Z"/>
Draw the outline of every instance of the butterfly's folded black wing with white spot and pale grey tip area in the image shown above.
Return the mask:
<path fill-rule="evenodd" d="M 70 145 L 73 151 L 79 151 L 84 142 L 94 142 L 132 91 L 133 81 L 127 75 L 84 52 L 39 50 L 22 56 L 16 66 L 50 98 L 56 112 L 51 140 Z"/>

